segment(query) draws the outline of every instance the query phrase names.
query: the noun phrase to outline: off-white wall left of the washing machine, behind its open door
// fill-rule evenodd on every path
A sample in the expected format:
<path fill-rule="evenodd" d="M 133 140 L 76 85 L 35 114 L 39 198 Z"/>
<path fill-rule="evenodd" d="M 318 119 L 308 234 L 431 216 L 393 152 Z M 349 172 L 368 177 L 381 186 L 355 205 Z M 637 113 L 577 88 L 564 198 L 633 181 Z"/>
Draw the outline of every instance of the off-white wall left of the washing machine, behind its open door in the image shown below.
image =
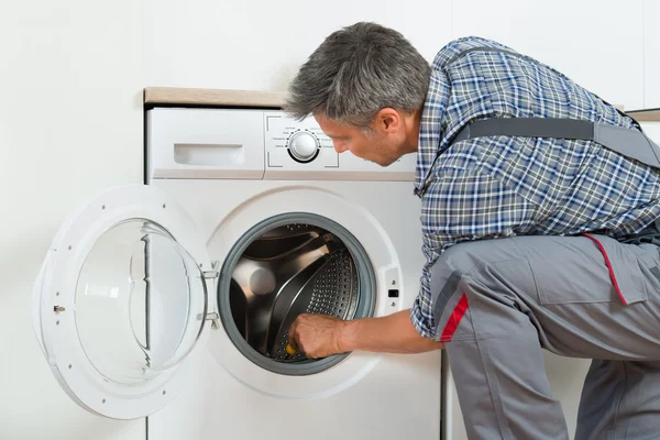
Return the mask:
<path fill-rule="evenodd" d="M 0 438 L 144 439 L 55 382 L 32 284 L 59 223 L 100 188 L 142 179 L 142 3 L 0 2 Z"/>

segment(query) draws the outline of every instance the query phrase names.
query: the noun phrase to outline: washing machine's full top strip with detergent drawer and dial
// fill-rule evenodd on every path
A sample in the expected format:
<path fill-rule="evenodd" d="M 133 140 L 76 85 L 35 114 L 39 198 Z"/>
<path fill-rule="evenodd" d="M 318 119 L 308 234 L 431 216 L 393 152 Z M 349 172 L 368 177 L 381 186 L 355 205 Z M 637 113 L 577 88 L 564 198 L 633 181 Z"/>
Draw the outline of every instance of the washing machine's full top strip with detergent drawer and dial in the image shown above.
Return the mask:
<path fill-rule="evenodd" d="M 314 118 L 282 110 L 156 108 L 147 112 L 150 178 L 413 180 L 416 155 L 382 167 L 334 151 Z"/>

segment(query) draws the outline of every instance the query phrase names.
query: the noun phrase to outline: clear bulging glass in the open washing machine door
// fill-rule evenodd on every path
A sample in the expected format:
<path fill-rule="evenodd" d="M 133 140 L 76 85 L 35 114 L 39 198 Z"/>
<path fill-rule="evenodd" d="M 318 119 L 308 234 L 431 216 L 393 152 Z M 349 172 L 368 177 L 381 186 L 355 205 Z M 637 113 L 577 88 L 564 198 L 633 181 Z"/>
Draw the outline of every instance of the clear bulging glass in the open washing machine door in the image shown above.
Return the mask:
<path fill-rule="evenodd" d="M 127 220 L 103 233 L 76 286 L 76 326 L 92 365 L 134 385 L 175 366 L 207 311 L 204 274 L 161 226 Z"/>

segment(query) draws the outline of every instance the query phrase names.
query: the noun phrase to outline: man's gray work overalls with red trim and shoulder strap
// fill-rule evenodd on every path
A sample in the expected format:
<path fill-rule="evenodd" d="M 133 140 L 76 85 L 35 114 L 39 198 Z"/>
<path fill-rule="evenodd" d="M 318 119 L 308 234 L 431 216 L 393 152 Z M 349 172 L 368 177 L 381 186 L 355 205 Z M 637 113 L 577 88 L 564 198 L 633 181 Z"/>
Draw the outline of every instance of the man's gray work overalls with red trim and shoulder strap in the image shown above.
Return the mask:
<path fill-rule="evenodd" d="M 587 121 L 481 120 L 454 142 L 491 135 L 592 140 L 660 168 L 644 133 Z M 541 348 L 594 360 L 576 439 L 660 439 L 660 232 L 646 232 L 482 240 L 440 256 L 435 316 L 470 439 L 569 438 Z"/>

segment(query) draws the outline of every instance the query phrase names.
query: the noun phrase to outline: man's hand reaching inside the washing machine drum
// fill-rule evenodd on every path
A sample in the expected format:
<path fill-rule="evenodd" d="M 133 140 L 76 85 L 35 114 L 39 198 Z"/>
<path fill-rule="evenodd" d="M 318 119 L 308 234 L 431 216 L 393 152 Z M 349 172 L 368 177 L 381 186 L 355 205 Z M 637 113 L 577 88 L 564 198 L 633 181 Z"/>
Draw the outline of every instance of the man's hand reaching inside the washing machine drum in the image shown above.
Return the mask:
<path fill-rule="evenodd" d="M 289 345 L 309 359 L 342 353 L 341 331 L 345 321 L 328 315 L 300 315 L 289 328 Z"/>

